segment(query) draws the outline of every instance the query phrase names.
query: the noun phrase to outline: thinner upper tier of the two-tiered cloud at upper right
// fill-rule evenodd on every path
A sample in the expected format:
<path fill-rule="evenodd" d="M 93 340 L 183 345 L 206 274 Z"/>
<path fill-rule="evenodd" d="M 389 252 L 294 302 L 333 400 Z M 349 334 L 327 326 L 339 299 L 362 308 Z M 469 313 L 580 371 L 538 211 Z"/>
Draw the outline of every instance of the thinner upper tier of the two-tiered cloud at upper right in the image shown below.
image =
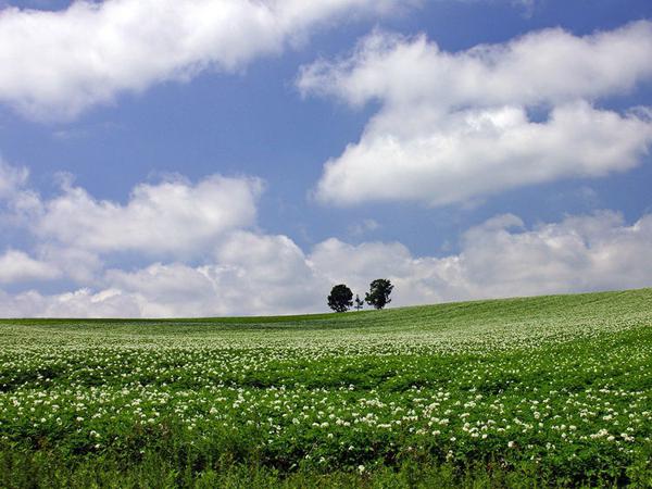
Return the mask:
<path fill-rule="evenodd" d="M 560 103 L 631 90 L 652 77 L 652 22 L 576 37 L 562 29 L 505 43 L 442 51 L 425 36 L 375 32 L 350 58 L 302 68 L 304 92 L 352 104 L 428 102 L 435 108 Z"/>

